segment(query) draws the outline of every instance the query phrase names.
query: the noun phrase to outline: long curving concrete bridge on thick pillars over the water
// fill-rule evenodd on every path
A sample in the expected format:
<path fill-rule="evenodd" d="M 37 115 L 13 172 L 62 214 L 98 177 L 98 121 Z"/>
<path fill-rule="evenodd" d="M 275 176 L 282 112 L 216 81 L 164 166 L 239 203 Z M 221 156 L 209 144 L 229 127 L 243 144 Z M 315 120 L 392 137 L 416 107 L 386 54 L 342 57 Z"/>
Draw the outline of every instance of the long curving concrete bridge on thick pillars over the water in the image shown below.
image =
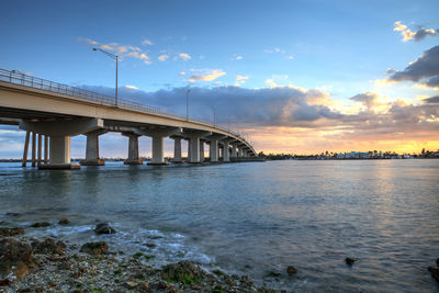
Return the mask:
<path fill-rule="evenodd" d="M 70 137 L 87 136 L 86 159 L 81 165 L 103 165 L 99 157 L 99 136 L 119 132 L 128 137 L 128 165 L 143 164 L 138 137 L 151 137 L 148 165 L 167 165 L 165 138 L 175 140 L 173 162 L 181 162 L 181 140 L 188 140 L 188 162 L 204 161 L 204 145 L 210 145 L 210 161 L 257 159 L 254 147 L 239 134 L 210 123 L 157 108 L 0 69 L 0 124 L 19 125 L 26 131 L 23 166 L 32 136 L 32 158 L 41 169 L 76 169 L 70 162 Z M 36 143 L 37 142 L 37 143 Z M 44 142 L 44 158 L 43 155 Z"/>

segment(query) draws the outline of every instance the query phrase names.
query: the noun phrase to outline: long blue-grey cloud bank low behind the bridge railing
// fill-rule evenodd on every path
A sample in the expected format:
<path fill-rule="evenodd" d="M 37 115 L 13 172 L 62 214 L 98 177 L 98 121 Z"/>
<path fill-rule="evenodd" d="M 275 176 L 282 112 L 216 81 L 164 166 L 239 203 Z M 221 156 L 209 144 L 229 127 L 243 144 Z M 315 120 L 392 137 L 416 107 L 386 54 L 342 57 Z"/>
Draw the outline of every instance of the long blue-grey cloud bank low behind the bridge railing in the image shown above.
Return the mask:
<path fill-rule="evenodd" d="M 85 87 L 89 90 L 111 94 L 112 89 Z M 120 97 L 143 104 L 166 108 L 166 110 L 185 115 L 185 93 L 188 88 L 173 88 L 145 92 L 142 90 L 120 89 Z M 331 111 L 326 105 L 309 104 L 325 93 L 318 90 L 301 90 L 279 87 L 245 89 L 239 87 L 217 87 L 190 89 L 189 114 L 192 117 L 226 124 L 289 125 L 306 126 L 319 119 L 339 119 L 342 114 Z"/>

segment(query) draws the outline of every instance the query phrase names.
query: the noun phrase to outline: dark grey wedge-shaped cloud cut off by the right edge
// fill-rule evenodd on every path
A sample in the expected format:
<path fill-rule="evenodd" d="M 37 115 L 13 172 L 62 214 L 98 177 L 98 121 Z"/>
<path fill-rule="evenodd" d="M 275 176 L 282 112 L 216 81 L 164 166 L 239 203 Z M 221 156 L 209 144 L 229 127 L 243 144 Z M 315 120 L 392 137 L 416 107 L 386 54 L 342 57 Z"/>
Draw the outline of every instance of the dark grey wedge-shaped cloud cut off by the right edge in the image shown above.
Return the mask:
<path fill-rule="evenodd" d="M 439 46 L 426 50 L 419 58 L 410 63 L 403 71 L 391 70 L 389 80 L 419 81 L 425 78 L 439 76 Z"/>

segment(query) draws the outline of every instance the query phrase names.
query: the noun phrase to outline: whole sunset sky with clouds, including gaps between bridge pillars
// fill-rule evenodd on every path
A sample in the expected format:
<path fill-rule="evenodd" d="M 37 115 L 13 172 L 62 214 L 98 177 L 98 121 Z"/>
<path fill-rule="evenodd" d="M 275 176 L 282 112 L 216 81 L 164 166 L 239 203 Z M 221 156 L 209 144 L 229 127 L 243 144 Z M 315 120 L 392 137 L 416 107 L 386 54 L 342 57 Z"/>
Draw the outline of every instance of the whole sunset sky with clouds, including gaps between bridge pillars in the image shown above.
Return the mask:
<path fill-rule="evenodd" d="M 439 2 L 2 1 L 0 68 L 222 124 L 257 151 L 439 149 Z M 0 158 L 24 133 L 0 125 Z M 85 156 L 83 135 L 72 138 Z M 101 136 L 101 156 L 127 138 Z M 140 139 L 150 156 L 150 138 Z M 183 146 L 184 147 L 184 146 Z M 166 154 L 172 140 L 166 140 Z"/>

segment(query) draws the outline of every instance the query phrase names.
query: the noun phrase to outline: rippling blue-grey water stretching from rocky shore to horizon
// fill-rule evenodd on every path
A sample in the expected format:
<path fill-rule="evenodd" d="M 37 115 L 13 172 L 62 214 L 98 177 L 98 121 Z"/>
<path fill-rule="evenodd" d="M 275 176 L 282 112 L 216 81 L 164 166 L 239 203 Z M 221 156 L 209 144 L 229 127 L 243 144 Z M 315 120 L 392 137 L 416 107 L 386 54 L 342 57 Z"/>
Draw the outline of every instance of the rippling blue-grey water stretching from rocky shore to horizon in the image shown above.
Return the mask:
<path fill-rule="evenodd" d="M 439 257 L 439 160 L 108 162 L 80 171 L 1 164 L 0 185 L 3 226 L 55 223 L 30 236 L 103 238 L 114 250 L 155 255 L 154 264 L 190 259 L 297 292 L 439 290 L 427 271 Z M 61 217 L 71 224 L 57 225 Z M 117 234 L 95 236 L 99 221 Z M 345 257 L 358 261 L 348 267 Z M 266 277 L 273 270 L 279 280 Z"/>

